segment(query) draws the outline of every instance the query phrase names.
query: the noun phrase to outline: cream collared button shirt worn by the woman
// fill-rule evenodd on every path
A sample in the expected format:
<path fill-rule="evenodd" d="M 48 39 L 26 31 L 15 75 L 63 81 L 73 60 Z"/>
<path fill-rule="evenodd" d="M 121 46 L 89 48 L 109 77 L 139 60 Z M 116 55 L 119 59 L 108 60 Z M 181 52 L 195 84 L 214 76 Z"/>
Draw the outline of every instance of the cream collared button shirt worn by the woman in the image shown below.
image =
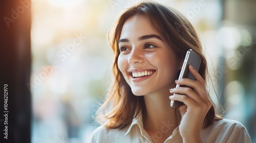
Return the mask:
<path fill-rule="evenodd" d="M 93 133 L 91 143 L 144 143 L 144 142 L 158 142 L 159 137 L 164 132 L 170 129 L 170 124 L 163 123 L 161 131 L 156 132 L 155 136 L 151 138 L 143 129 L 141 115 L 134 118 L 130 126 L 124 129 L 107 129 L 103 125 L 99 126 Z M 203 142 L 238 142 L 250 143 L 251 139 L 246 128 L 239 122 L 233 120 L 223 119 L 214 123 L 206 129 L 201 129 L 201 138 Z M 167 142 L 182 142 L 182 137 L 179 133 L 179 128 L 173 131 L 164 143 Z"/>

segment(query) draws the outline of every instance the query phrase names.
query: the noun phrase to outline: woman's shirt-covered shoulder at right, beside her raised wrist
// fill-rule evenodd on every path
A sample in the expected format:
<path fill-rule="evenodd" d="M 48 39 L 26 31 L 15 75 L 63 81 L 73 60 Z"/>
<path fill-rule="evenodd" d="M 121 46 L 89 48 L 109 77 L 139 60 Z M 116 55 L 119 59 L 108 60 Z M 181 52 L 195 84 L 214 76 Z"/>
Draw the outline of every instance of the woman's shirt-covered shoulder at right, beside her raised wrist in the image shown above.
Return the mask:
<path fill-rule="evenodd" d="M 216 121 L 201 133 L 209 142 L 251 142 L 246 128 L 240 122 L 234 120 L 222 119 Z"/>

